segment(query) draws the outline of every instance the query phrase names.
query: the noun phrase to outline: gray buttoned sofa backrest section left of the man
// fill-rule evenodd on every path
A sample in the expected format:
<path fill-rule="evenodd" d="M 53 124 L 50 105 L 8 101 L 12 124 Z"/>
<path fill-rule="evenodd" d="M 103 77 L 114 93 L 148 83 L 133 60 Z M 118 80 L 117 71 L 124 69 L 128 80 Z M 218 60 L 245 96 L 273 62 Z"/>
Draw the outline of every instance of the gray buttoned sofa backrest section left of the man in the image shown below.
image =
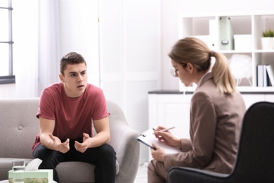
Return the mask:
<path fill-rule="evenodd" d="M 39 98 L 0 99 L 0 157 L 32 158 Z"/>

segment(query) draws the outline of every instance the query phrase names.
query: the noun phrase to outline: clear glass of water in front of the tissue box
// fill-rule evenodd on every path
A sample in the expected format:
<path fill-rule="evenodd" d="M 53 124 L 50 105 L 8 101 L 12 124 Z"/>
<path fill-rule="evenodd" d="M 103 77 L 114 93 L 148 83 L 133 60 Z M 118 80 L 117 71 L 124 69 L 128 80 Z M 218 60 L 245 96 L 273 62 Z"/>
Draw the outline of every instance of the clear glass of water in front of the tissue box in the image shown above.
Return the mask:
<path fill-rule="evenodd" d="M 13 160 L 13 182 L 23 183 L 25 180 L 25 160 Z"/>

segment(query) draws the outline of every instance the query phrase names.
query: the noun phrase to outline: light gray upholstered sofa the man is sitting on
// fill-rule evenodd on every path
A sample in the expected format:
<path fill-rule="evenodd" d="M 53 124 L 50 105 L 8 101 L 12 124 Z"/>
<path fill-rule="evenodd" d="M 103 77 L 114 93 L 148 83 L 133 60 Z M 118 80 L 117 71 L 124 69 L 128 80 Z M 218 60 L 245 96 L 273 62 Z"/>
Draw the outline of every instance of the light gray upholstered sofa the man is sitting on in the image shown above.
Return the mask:
<path fill-rule="evenodd" d="M 32 160 L 32 144 L 39 133 L 36 118 L 39 98 L 0 99 L 0 180 L 8 179 L 11 160 L 23 158 Z M 124 113 L 117 104 L 107 101 L 110 113 L 110 145 L 117 153 L 116 182 L 134 182 L 138 171 L 140 143 L 135 140 L 139 133 L 131 130 Z M 82 162 L 60 163 L 58 171 L 62 182 L 94 182 L 94 166 Z M 118 170 L 118 169 L 117 169 Z"/>

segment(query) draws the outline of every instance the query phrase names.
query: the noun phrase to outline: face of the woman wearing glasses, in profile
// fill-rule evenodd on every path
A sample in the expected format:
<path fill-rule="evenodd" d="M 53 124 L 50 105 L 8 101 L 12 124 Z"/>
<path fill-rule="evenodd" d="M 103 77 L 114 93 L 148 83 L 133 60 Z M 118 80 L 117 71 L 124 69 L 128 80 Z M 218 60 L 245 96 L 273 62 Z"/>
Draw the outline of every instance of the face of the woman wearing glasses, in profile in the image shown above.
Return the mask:
<path fill-rule="evenodd" d="M 171 65 L 175 69 L 175 77 L 178 77 L 183 84 L 185 84 L 185 87 L 189 87 L 194 82 L 193 77 L 193 65 L 187 64 L 186 67 L 183 67 L 180 63 L 176 63 L 171 60 Z"/>

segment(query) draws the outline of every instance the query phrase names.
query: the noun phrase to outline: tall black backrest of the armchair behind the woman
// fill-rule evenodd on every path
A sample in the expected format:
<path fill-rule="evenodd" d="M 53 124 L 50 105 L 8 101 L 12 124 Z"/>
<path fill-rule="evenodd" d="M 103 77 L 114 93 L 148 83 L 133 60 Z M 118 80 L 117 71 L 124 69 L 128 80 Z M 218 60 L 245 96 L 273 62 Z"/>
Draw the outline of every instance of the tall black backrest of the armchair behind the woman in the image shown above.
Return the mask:
<path fill-rule="evenodd" d="M 248 182 L 247 177 L 251 182 L 273 180 L 273 155 L 274 103 L 255 103 L 244 115 L 237 161 L 230 177 L 237 182 Z"/>

